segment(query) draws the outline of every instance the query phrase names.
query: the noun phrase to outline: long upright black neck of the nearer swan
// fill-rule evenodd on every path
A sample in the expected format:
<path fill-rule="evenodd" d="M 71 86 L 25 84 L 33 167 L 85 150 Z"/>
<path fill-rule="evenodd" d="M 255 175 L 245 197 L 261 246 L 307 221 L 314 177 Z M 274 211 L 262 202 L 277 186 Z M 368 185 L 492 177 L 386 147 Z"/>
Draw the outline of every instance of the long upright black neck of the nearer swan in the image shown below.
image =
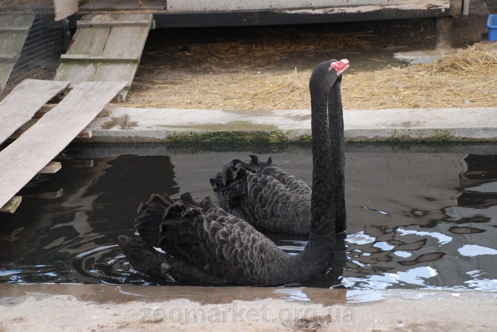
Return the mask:
<path fill-rule="evenodd" d="M 333 158 L 328 126 L 327 93 L 311 86 L 311 129 L 313 180 L 311 197 L 311 235 L 306 258 L 316 265 L 329 264 L 335 243 Z M 328 266 L 328 265 L 327 265 Z"/>

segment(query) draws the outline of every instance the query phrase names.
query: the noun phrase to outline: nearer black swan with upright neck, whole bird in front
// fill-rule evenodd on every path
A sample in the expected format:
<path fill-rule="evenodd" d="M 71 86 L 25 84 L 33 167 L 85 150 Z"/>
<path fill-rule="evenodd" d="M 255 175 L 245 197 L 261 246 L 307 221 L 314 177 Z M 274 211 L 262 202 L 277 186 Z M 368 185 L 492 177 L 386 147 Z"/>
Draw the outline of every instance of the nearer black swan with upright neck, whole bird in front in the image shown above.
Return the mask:
<path fill-rule="evenodd" d="M 290 255 L 241 218 L 196 202 L 153 194 L 136 219 L 139 239 L 119 236 L 131 265 L 169 281 L 203 285 L 276 285 L 324 274 L 335 249 L 333 158 L 328 133 L 327 95 L 347 62 L 331 60 L 313 71 L 311 91 L 313 182 L 309 243 Z"/>

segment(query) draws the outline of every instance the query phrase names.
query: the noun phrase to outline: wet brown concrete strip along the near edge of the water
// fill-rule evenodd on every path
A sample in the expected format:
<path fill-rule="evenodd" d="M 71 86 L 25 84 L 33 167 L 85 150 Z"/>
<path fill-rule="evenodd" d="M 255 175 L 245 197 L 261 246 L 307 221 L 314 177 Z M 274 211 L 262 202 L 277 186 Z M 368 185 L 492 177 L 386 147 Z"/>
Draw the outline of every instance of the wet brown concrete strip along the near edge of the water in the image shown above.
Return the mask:
<path fill-rule="evenodd" d="M 350 292 L 350 291 L 349 291 Z M 368 302 L 369 292 L 350 292 L 347 300 L 345 289 L 320 289 L 306 287 L 202 287 L 202 286 L 150 286 L 99 285 L 99 284 L 0 284 L 0 294 L 5 298 L 19 298 L 26 294 L 72 295 L 82 301 L 98 303 L 126 303 L 130 301 L 161 302 L 187 299 L 201 304 L 222 304 L 233 301 L 256 301 L 266 298 L 285 301 L 312 301 L 329 306 L 346 302 Z M 362 295 L 362 296 L 360 296 Z M 388 297 L 381 296 L 381 298 Z M 15 302 L 15 301 L 14 301 Z"/>

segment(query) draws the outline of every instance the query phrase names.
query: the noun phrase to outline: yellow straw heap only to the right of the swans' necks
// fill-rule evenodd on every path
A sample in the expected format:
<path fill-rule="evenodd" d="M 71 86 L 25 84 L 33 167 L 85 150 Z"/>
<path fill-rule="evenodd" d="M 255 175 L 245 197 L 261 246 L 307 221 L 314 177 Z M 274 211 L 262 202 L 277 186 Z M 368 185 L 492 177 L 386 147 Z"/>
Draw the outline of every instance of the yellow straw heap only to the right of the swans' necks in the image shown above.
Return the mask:
<path fill-rule="evenodd" d="M 497 106 L 497 45 L 475 44 L 424 65 L 354 73 L 343 80 L 344 107 Z"/>

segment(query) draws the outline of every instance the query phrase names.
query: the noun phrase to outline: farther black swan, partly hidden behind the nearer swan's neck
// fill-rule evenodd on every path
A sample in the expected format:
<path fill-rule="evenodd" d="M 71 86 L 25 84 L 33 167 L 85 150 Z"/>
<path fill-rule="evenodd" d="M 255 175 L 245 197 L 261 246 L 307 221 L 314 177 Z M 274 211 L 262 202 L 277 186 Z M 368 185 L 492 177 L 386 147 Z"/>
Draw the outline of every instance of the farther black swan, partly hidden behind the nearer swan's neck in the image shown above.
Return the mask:
<path fill-rule="evenodd" d="M 348 61 L 342 60 L 345 67 Z M 335 234 L 347 229 L 345 211 L 343 108 L 341 104 L 341 72 L 328 94 L 333 192 L 335 193 Z M 315 133 L 313 128 L 313 140 Z M 250 162 L 235 159 L 221 167 L 211 185 L 221 208 L 240 217 L 258 230 L 279 233 L 310 234 L 311 188 L 303 180 L 256 156 Z"/>

